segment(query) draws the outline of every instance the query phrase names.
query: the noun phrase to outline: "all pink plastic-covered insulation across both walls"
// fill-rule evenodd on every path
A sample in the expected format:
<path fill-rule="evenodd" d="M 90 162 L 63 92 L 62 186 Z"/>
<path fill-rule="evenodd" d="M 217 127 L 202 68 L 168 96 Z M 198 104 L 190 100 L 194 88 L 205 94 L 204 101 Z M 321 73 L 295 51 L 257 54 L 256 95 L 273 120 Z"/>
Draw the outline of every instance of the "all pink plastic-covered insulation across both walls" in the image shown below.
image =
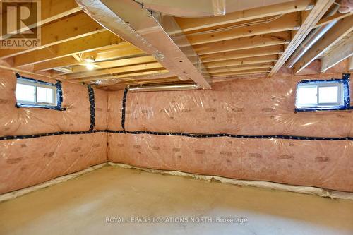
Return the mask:
<path fill-rule="evenodd" d="M 125 128 L 128 132 L 352 137 L 351 112 L 294 112 L 299 80 L 330 78 L 342 78 L 342 73 L 234 80 L 214 83 L 213 90 L 128 92 Z M 352 94 L 352 81 L 350 85 Z M 16 76 L 1 70 L 0 136 L 88 131 L 88 88 L 65 82 L 62 88 L 65 111 L 16 108 Z M 94 92 L 94 129 L 121 131 L 124 91 Z M 0 140 L 0 193 L 107 161 L 353 192 L 351 140 L 97 132 Z"/>

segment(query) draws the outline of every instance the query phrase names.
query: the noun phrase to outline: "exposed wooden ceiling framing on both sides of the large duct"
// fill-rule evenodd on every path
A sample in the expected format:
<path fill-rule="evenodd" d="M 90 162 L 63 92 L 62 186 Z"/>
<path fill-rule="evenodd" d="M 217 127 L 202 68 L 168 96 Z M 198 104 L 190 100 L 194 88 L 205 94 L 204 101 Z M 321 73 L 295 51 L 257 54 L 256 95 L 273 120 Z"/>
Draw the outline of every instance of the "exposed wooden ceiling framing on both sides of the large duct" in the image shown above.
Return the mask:
<path fill-rule="evenodd" d="M 341 21 L 299 62 L 306 65 L 324 56 L 322 65 L 327 69 L 349 56 L 349 44 L 339 47 L 334 44 L 352 30 L 352 14 L 336 13 L 322 19 L 333 1 L 295 0 L 225 16 L 175 19 L 181 28 L 177 31 L 185 32 L 204 64 L 201 71 L 208 71 L 205 77 L 210 81 L 249 74 L 272 76 L 312 28 L 332 20 Z M 1 49 L 0 59 L 16 69 L 52 74 L 59 80 L 75 83 L 116 79 L 111 81 L 117 82 L 112 88 L 128 84 L 181 83 L 153 56 L 102 28 L 80 10 L 75 0 L 42 1 L 42 20 L 38 25 L 42 26 L 40 47 Z M 85 66 L 88 58 L 94 59 L 92 71 Z M 299 63 L 294 69 L 297 66 Z M 187 81 L 190 82 L 192 80 Z"/>

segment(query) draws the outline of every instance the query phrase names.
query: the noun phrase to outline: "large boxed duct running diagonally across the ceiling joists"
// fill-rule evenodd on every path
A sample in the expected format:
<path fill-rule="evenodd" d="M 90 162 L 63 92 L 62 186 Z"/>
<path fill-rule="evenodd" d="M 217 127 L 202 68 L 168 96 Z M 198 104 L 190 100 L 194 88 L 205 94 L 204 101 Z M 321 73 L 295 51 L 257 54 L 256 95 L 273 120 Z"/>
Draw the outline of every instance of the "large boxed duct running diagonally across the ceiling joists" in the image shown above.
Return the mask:
<path fill-rule="evenodd" d="M 181 80 L 193 80 L 202 88 L 210 84 L 173 42 L 153 13 L 131 0 L 76 0 L 91 18 L 127 42 L 152 54 Z"/>

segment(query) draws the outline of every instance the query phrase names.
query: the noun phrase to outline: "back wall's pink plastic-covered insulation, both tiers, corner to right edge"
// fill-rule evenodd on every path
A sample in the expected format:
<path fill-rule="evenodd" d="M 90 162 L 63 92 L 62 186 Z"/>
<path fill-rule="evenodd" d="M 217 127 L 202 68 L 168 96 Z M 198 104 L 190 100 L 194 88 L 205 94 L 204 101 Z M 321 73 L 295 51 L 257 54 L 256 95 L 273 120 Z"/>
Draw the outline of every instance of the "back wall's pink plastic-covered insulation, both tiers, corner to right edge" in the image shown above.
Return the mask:
<path fill-rule="evenodd" d="M 353 192 L 352 112 L 294 112 L 299 80 L 330 78 L 342 73 L 234 80 L 214 83 L 212 90 L 128 92 L 126 132 L 108 134 L 108 159 Z M 109 118 L 121 109 L 108 107 Z"/>

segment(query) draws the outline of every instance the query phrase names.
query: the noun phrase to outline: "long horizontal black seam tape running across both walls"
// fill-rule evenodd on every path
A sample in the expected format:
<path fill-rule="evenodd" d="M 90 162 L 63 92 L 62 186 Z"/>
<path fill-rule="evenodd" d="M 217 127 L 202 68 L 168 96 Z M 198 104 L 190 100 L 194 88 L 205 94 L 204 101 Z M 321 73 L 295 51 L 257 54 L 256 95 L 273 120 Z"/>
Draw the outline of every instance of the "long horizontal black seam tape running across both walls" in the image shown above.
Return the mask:
<path fill-rule="evenodd" d="M 297 135 L 232 135 L 226 133 L 220 134 L 199 134 L 199 133 L 169 133 L 169 132 L 155 132 L 155 131 L 112 131 L 112 130 L 92 130 L 92 131 L 59 131 L 54 133 L 44 133 L 36 135 L 9 135 L 0 137 L 0 140 L 21 140 L 29 138 L 40 138 L 52 135 L 80 135 L 90 134 L 97 132 L 106 133 L 126 133 L 132 135 L 148 134 L 148 135 L 172 135 L 172 136 L 183 136 L 189 138 L 217 138 L 217 137 L 229 137 L 229 138 L 241 138 L 241 139 L 284 139 L 284 140 L 353 140 L 353 137 L 307 137 Z"/>

